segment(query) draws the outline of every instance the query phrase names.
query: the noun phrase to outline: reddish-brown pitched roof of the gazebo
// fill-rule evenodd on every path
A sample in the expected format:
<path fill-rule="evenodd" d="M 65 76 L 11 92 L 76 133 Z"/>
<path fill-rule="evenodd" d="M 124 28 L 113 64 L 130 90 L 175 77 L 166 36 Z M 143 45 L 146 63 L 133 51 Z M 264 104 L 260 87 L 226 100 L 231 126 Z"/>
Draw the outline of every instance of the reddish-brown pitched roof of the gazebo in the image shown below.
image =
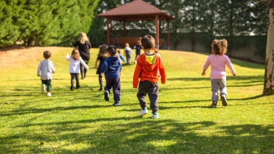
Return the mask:
<path fill-rule="evenodd" d="M 155 15 L 159 16 L 159 20 L 174 20 L 172 16 L 166 14 L 162 10 L 156 8 L 142 0 L 135 0 L 131 3 L 126 3 L 107 12 L 98 14 L 104 18 L 113 21 L 153 21 Z"/>

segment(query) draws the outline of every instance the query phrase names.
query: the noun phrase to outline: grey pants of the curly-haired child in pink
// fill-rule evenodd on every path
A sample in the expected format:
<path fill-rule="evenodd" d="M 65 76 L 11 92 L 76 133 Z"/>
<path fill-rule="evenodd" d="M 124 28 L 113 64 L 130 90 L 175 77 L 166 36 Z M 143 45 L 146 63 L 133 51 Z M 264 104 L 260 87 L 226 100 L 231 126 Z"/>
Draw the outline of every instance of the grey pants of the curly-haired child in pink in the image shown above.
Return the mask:
<path fill-rule="evenodd" d="M 211 92 L 212 92 L 212 101 L 218 101 L 218 91 L 220 89 L 220 96 L 222 94 L 227 95 L 227 86 L 226 79 L 211 79 Z"/>

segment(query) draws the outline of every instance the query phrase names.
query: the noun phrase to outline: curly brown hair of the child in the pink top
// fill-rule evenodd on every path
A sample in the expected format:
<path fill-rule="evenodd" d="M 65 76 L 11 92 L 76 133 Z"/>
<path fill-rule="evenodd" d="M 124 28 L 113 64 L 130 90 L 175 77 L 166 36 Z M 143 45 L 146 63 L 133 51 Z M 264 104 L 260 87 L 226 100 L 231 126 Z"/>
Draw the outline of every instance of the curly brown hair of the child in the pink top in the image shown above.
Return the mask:
<path fill-rule="evenodd" d="M 227 53 L 227 40 L 223 39 L 223 40 L 213 40 L 212 44 L 212 54 L 215 55 L 224 55 L 225 53 Z"/>

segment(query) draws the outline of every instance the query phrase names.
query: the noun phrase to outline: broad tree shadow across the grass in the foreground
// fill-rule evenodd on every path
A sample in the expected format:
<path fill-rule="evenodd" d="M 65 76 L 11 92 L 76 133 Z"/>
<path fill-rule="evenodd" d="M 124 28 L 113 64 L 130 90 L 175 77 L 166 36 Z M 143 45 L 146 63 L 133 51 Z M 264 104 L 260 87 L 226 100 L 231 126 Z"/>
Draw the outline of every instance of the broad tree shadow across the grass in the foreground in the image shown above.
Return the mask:
<path fill-rule="evenodd" d="M 94 125 L 97 125 L 95 128 Z M 100 125 L 100 127 L 98 127 Z M 273 153 L 274 125 L 229 125 L 212 121 L 180 123 L 151 118 L 97 118 L 35 123 L 17 127 L 37 131 L 1 136 L 6 153 Z M 87 129 L 88 131 L 82 131 Z M 211 130 L 211 134 L 204 134 Z M 54 137 L 53 133 L 54 132 Z M 19 140 L 35 140 L 37 144 Z M 43 142 L 40 146 L 40 142 Z M 9 145 L 13 145 L 12 148 Z M 69 145 L 68 145 L 69 144 Z M 85 144 L 81 148 L 77 145 Z M 68 149 L 75 145 L 75 148 Z M 22 147 L 23 146 L 23 147 Z"/>

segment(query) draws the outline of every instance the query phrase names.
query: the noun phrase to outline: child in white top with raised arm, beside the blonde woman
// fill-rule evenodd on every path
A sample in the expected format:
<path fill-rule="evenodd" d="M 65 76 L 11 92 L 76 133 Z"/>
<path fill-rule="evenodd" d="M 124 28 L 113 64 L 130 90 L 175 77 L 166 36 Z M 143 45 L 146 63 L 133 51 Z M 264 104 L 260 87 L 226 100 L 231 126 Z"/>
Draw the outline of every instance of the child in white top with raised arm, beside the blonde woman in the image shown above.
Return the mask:
<path fill-rule="evenodd" d="M 69 73 L 71 73 L 71 90 L 74 90 L 74 81 L 76 79 L 76 88 L 80 88 L 79 85 L 79 73 L 80 73 L 80 64 L 88 70 L 88 65 L 84 60 L 82 60 L 82 57 L 80 57 L 80 53 L 77 49 L 74 49 L 71 53 L 71 57 L 69 57 L 69 53 L 66 53 L 66 60 L 70 61 L 69 64 Z"/>

